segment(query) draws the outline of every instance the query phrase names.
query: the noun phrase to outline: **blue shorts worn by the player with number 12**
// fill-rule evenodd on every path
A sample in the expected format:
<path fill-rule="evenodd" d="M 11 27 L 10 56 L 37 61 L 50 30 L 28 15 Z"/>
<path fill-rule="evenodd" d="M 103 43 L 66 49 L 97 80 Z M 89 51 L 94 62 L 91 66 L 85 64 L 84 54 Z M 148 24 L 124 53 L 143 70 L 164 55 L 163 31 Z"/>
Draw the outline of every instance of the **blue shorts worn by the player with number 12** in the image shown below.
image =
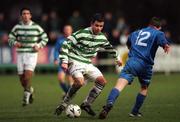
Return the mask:
<path fill-rule="evenodd" d="M 119 78 L 124 78 L 131 84 L 134 77 L 138 77 L 142 86 L 148 86 L 152 77 L 152 65 L 145 63 L 141 59 L 129 58 Z"/>

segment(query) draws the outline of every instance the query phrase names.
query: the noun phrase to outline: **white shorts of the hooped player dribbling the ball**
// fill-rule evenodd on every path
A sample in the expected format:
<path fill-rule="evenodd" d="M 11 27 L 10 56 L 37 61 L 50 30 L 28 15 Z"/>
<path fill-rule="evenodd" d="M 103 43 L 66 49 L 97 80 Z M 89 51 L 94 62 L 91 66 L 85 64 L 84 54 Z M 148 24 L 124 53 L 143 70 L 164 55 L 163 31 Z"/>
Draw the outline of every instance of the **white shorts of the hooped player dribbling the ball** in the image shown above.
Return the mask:
<path fill-rule="evenodd" d="M 69 73 L 75 78 L 84 78 L 85 81 L 95 81 L 97 77 L 103 76 L 101 71 L 93 64 L 73 62 L 69 65 Z"/>

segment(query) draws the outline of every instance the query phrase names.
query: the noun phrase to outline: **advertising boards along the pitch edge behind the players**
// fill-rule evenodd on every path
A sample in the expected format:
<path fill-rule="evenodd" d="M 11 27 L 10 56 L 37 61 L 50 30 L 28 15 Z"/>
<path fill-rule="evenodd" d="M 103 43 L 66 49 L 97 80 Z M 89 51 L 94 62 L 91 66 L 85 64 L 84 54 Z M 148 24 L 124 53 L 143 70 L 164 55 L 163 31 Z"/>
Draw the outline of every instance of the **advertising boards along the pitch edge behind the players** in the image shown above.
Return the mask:
<path fill-rule="evenodd" d="M 127 59 L 128 49 L 126 46 L 118 46 L 116 48 L 118 53 L 123 59 L 123 62 Z M 38 53 L 37 70 L 56 70 L 56 66 L 53 65 L 53 53 L 54 47 L 47 46 L 41 49 Z M 101 51 L 102 53 L 106 53 Z M 100 56 L 101 57 L 101 56 Z M 9 46 L 0 47 L 0 71 L 10 71 L 16 70 L 16 50 L 15 48 L 10 48 Z M 95 61 L 97 66 L 111 66 L 115 67 L 115 62 L 112 58 L 98 58 Z M 116 67 L 117 72 L 119 72 L 122 67 Z M 167 55 L 163 52 L 162 48 L 158 48 L 155 65 L 153 70 L 155 72 L 180 72 L 180 46 L 172 45 L 170 53 Z"/>

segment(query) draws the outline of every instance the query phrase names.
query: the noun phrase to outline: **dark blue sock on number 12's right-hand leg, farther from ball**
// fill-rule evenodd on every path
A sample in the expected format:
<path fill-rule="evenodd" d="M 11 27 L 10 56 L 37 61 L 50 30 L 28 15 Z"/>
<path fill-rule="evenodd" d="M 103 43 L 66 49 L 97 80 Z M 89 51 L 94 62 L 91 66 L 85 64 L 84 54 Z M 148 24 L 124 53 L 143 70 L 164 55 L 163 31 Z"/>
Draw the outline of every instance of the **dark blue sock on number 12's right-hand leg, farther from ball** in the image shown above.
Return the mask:
<path fill-rule="evenodd" d="M 139 109 L 141 108 L 145 98 L 146 98 L 146 96 L 144 96 L 140 93 L 137 95 L 136 103 L 132 109 L 132 113 L 138 113 L 139 112 Z"/>

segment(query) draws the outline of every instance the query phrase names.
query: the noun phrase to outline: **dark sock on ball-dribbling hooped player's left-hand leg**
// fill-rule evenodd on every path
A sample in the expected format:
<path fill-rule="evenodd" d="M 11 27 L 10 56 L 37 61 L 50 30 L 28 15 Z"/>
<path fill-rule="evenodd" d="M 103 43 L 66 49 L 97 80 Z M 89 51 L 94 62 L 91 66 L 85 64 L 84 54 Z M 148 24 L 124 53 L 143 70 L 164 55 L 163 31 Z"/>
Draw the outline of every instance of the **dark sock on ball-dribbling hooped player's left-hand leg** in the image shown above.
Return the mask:
<path fill-rule="evenodd" d="M 73 84 L 72 87 L 68 90 L 63 103 L 68 104 L 69 101 L 72 99 L 72 97 L 75 95 L 75 93 L 81 88 L 80 85 Z"/>

